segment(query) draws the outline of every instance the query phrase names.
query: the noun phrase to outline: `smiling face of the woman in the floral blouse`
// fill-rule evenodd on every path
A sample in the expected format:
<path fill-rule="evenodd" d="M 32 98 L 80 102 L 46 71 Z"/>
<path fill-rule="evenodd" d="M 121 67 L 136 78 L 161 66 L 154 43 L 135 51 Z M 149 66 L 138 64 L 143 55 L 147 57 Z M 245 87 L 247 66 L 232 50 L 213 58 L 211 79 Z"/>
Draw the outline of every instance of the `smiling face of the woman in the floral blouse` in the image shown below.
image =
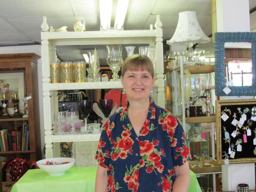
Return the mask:
<path fill-rule="evenodd" d="M 146 70 L 127 71 L 121 78 L 128 100 L 148 99 L 156 79 Z"/>

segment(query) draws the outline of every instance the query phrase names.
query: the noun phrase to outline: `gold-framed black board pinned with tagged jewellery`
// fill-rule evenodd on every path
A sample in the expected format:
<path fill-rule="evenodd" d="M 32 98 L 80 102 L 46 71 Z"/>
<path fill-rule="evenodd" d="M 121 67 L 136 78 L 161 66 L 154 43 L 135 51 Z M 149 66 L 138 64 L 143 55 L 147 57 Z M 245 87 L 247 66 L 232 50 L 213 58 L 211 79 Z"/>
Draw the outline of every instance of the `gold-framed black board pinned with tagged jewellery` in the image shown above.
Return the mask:
<path fill-rule="evenodd" d="M 256 99 L 216 100 L 216 145 L 219 164 L 256 162 Z"/>

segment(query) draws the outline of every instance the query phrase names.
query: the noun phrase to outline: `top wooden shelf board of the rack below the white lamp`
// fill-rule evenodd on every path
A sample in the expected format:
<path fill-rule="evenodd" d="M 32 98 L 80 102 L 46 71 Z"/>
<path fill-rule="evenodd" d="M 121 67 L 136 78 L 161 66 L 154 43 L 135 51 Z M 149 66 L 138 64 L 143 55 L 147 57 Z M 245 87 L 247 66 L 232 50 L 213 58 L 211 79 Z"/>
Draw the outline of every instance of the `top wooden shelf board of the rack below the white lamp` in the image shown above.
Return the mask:
<path fill-rule="evenodd" d="M 185 65 L 184 70 L 188 69 L 191 74 L 211 73 L 215 71 L 214 65 Z M 180 74 L 180 67 L 171 68 Z"/>

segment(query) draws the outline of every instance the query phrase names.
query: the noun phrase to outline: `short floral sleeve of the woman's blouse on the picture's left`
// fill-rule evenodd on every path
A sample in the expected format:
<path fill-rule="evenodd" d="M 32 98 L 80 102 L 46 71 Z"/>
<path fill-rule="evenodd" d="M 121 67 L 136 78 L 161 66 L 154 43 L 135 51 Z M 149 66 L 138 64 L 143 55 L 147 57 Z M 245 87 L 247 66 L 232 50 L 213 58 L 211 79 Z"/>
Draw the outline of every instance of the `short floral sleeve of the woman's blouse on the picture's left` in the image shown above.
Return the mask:
<path fill-rule="evenodd" d="M 107 128 L 107 129 L 106 129 Z M 110 160 L 110 141 L 109 141 L 109 120 L 104 124 L 104 128 L 100 135 L 100 140 L 97 147 L 95 159 L 101 167 L 108 168 Z M 108 134 L 107 134 L 108 132 Z"/>

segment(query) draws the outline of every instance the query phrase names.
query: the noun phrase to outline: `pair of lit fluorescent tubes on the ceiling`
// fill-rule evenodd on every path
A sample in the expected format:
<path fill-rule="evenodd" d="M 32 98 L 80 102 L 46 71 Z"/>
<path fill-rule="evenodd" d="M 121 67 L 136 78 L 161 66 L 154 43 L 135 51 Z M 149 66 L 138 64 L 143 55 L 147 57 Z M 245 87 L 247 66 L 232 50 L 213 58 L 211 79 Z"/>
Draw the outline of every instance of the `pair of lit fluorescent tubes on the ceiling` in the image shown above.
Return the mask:
<path fill-rule="evenodd" d="M 129 0 L 118 0 L 114 28 L 120 30 L 124 26 Z M 100 0 L 100 26 L 103 30 L 111 28 L 113 0 Z"/>

